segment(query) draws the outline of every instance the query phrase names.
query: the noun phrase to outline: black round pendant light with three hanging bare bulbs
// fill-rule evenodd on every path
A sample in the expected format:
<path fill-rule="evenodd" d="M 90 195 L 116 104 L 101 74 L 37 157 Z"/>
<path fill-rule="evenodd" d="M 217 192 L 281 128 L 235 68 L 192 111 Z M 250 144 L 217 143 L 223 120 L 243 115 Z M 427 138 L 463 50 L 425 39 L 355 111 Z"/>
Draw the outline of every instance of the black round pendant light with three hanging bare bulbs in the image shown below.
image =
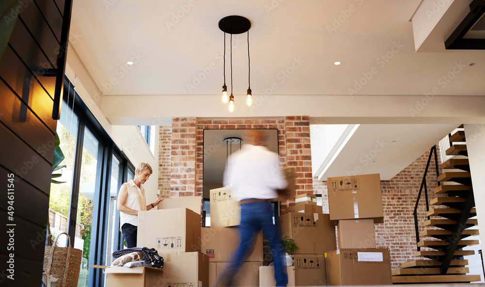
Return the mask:
<path fill-rule="evenodd" d="M 224 32 L 224 85 L 222 86 L 222 102 L 227 103 L 227 86 L 226 86 L 226 33 L 231 34 L 231 95 L 229 96 L 229 112 L 234 112 L 234 95 L 232 94 L 232 34 L 241 34 L 248 32 L 251 28 L 251 22 L 242 16 L 226 16 L 219 21 L 219 29 Z M 247 34 L 248 46 L 247 46 L 247 58 L 249 66 L 249 32 Z M 248 68 L 248 89 L 247 100 L 248 106 L 252 105 L 251 99 L 251 85 L 249 81 L 249 68 Z"/>

